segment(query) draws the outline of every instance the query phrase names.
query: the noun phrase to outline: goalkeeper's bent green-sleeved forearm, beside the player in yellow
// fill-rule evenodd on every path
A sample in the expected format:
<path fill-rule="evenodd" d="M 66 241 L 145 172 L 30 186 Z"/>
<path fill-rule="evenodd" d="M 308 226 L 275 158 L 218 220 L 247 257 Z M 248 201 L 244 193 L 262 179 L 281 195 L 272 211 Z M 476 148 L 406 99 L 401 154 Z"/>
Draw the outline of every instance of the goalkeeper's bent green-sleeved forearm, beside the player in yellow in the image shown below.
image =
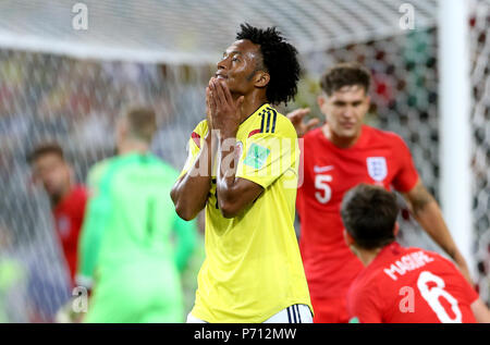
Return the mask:
<path fill-rule="evenodd" d="M 184 271 L 188 259 L 197 244 L 197 229 L 195 221 L 184 221 L 175 217 L 173 231 L 176 235 L 175 263 L 180 272 Z"/>

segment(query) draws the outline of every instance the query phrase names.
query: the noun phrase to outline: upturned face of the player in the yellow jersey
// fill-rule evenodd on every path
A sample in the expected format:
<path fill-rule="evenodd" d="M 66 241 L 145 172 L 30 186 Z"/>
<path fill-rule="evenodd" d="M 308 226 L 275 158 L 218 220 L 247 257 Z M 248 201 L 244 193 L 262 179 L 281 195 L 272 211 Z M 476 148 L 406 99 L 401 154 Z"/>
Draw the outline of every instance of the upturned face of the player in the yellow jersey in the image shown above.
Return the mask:
<path fill-rule="evenodd" d="M 254 87 L 257 66 L 261 64 L 258 45 L 241 39 L 231 45 L 218 62 L 216 77 L 224 79 L 232 95 L 247 95 Z"/>

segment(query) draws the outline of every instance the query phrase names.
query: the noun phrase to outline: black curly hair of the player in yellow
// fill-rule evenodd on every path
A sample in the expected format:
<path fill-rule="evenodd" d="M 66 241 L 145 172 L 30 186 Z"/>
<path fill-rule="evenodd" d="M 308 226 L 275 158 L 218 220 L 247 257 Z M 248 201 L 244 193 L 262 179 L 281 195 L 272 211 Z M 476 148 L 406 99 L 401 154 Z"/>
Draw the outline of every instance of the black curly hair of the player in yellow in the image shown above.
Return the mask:
<path fill-rule="evenodd" d="M 262 64 L 270 75 L 267 85 L 267 100 L 272 104 L 293 100 L 299 81 L 299 62 L 297 50 L 286 42 L 275 27 L 257 28 L 245 23 L 240 25 L 236 39 L 248 39 L 260 46 Z"/>

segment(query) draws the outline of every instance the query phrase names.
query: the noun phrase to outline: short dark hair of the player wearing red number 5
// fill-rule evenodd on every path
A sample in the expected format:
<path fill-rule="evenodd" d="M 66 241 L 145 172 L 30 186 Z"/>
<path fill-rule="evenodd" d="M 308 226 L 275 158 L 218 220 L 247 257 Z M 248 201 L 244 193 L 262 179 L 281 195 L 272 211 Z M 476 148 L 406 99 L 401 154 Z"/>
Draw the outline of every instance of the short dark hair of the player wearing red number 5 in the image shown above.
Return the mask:
<path fill-rule="evenodd" d="M 369 91 L 371 75 L 369 71 L 356 62 L 344 62 L 327 70 L 320 79 L 321 89 L 331 96 L 344 86 L 360 85 L 366 94 Z"/>

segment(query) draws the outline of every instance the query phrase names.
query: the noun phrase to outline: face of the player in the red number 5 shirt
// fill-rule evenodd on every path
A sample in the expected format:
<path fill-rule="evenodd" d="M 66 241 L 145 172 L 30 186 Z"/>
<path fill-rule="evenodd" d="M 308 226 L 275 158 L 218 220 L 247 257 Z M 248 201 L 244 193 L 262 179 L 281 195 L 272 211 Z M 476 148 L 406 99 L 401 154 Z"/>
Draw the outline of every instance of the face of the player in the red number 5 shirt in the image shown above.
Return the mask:
<path fill-rule="evenodd" d="M 369 110 L 369 96 L 363 86 L 344 86 L 329 97 L 320 96 L 318 103 L 329 128 L 340 138 L 359 136 L 364 116 Z"/>

